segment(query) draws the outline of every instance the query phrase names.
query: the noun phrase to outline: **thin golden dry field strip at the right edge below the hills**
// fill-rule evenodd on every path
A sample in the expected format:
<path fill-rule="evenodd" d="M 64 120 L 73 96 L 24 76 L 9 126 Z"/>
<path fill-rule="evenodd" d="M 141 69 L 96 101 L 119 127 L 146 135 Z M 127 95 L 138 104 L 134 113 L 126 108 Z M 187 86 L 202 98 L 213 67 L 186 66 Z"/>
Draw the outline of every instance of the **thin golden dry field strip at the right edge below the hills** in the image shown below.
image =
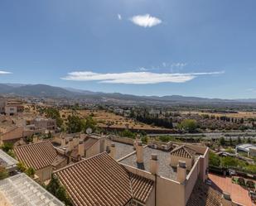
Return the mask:
<path fill-rule="evenodd" d="M 204 115 L 208 114 L 210 115 L 215 115 L 215 117 L 234 117 L 234 118 L 256 118 L 256 112 L 238 112 L 238 113 L 202 113 L 200 111 L 192 111 L 192 112 L 181 112 L 183 114 L 199 114 L 199 115 Z"/>

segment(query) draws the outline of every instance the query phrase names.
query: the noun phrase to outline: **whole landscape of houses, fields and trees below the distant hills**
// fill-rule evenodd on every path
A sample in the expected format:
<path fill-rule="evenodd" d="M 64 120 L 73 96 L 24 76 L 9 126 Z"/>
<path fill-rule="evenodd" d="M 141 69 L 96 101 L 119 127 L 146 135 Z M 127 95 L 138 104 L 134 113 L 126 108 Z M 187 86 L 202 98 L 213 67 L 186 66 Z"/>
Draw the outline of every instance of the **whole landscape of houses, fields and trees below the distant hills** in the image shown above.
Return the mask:
<path fill-rule="evenodd" d="M 0 99 L 0 205 L 254 205 L 256 111 Z"/>

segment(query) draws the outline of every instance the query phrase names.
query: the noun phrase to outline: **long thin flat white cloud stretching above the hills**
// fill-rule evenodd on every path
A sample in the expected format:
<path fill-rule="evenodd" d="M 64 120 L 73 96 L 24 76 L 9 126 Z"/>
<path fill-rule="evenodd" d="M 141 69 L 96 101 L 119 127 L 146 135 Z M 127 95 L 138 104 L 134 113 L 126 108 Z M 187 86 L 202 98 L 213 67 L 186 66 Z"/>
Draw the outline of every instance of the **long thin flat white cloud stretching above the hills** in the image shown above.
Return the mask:
<path fill-rule="evenodd" d="M 65 80 L 97 81 L 110 84 L 158 84 L 158 83 L 184 83 L 195 79 L 199 75 L 223 74 L 224 71 L 204 73 L 152 73 L 152 72 L 124 72 L 124 73 L 94 73 L 91 71 L 75 71 L 65 76 Z"/>

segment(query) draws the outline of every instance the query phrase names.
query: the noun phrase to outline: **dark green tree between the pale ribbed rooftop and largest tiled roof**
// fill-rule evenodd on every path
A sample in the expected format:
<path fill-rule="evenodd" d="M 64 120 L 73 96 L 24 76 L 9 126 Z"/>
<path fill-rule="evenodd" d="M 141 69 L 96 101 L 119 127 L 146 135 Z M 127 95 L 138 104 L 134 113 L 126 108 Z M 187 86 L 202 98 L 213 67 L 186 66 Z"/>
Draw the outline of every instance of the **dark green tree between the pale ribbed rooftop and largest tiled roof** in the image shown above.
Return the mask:
<path fill-rule="evenodd" d="M 60 201 L 64 202 L 65 205 L 71 206 L 70 197 L 65 191 L 65 188 L 60 184 L 60 180 L 56 175 L 51 175 L 51 181 L 46 186 L 46 189 L 56 196 L 57 199 L 60 199 Z"/>

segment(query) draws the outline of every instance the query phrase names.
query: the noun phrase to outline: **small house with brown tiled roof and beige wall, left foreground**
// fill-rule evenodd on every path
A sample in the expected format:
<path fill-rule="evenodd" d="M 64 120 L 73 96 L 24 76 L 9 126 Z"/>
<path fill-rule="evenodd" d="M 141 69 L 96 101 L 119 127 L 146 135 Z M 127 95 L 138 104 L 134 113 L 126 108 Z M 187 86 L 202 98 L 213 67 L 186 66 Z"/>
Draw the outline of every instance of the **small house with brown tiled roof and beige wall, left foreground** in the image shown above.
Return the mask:
<path fill-rule="evenodd" d="M 53 170 L 58 170 L 67 164 L 65 156 L 56 151 L 51 141 L 41 141 L 25 146 L 14 147 L 17 160 L 36 171 L 39 180 L 51 179 Z"/>

